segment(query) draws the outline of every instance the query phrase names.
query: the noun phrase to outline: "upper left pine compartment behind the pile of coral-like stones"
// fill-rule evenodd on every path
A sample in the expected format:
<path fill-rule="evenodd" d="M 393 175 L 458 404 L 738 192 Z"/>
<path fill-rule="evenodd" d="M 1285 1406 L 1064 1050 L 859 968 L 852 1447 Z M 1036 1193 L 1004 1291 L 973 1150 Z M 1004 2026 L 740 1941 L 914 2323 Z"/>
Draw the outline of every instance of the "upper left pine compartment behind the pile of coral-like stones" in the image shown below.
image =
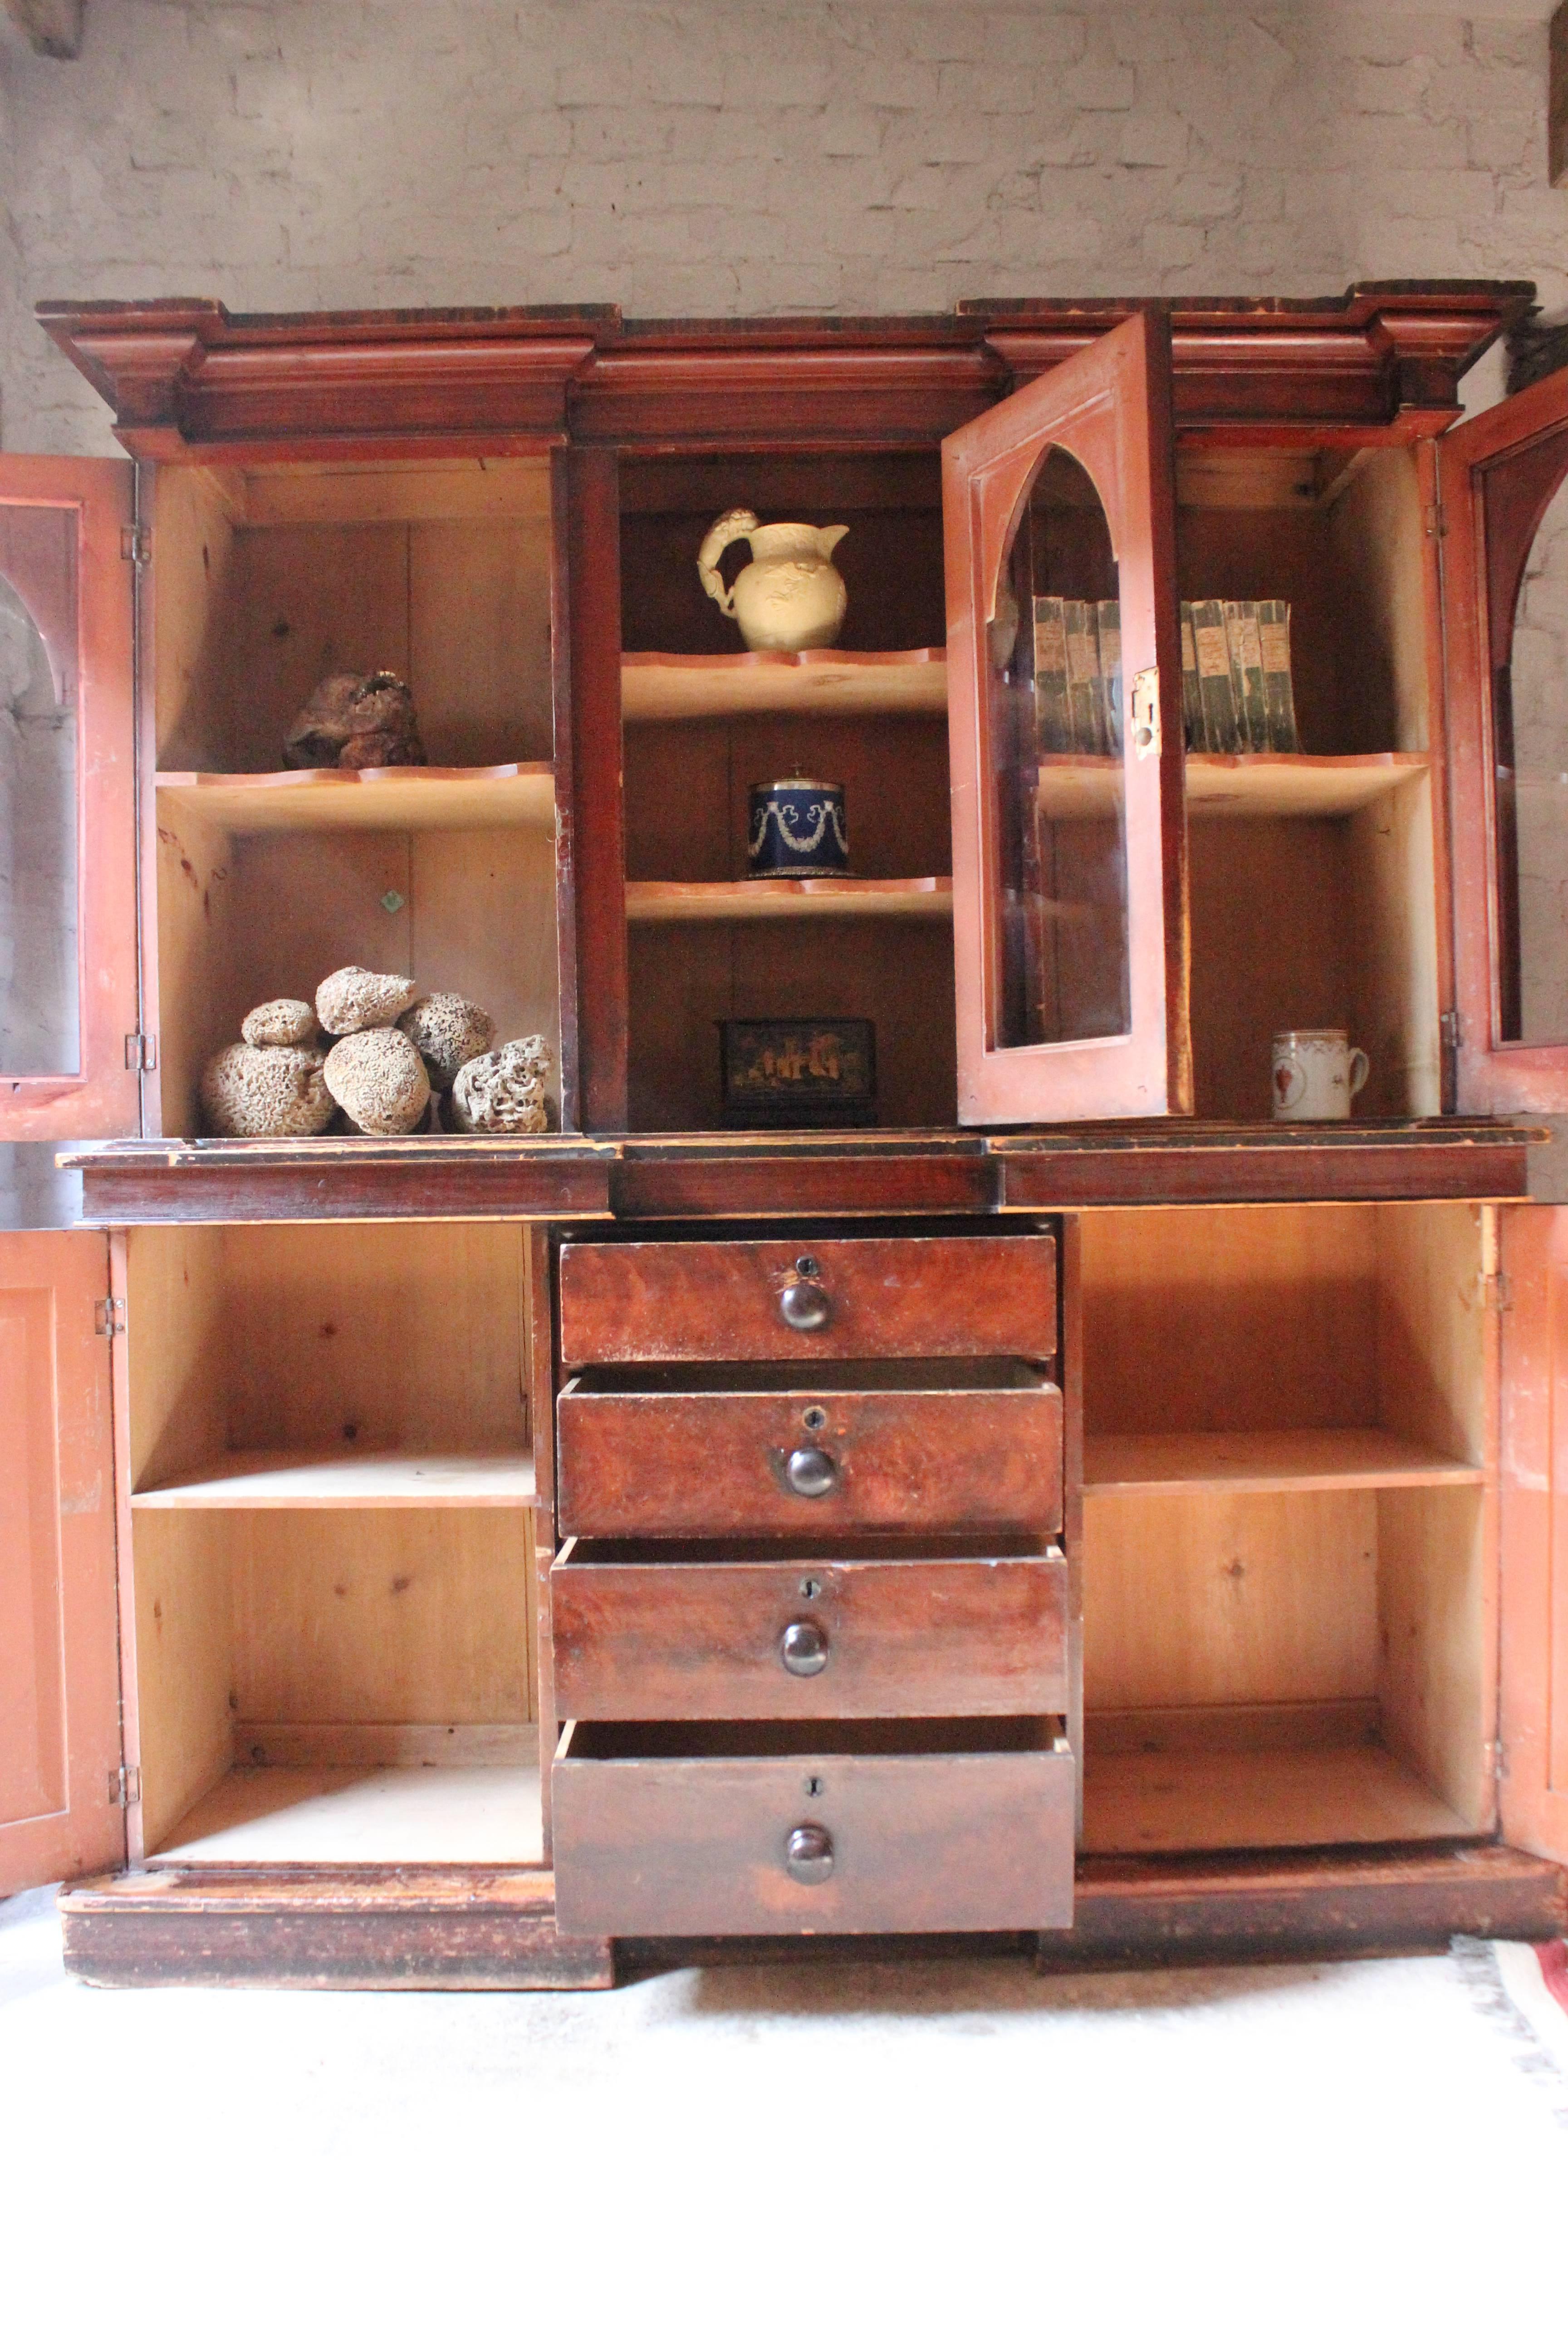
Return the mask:
<path fill-rule="evenodd" d="M 205 1131 L 254 1004 L 343 964 L 543 1035 L 557 1124 L 548 456 L 165 466 L 153 555 L 162 1131 Z M 376 670 L 425 762 L 289 764 L 315 687 Z"/>

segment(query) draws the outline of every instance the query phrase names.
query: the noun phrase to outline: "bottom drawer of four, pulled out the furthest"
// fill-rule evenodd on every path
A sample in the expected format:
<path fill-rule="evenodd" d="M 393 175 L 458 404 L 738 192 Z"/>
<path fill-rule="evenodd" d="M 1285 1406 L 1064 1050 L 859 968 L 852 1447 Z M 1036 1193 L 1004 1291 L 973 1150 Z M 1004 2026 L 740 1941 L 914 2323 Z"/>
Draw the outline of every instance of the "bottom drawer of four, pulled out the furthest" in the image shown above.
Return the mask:
<path fill-rule="evenodd" d="M 569 1936 L 1072 1926 L 1053 1722 L 567 1724 L 552 1804 Z"/>

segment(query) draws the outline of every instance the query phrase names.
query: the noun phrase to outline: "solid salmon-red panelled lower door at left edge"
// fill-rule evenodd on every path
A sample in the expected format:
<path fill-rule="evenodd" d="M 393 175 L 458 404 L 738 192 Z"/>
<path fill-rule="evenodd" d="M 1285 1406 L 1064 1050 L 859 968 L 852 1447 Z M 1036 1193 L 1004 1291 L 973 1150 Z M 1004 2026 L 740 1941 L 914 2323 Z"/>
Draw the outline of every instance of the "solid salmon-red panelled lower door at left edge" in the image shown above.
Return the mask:
<path fill-rule="evenodd" d="M 0 1235 L 0 1896 L 125 1863 L 108 1242 Z"/>

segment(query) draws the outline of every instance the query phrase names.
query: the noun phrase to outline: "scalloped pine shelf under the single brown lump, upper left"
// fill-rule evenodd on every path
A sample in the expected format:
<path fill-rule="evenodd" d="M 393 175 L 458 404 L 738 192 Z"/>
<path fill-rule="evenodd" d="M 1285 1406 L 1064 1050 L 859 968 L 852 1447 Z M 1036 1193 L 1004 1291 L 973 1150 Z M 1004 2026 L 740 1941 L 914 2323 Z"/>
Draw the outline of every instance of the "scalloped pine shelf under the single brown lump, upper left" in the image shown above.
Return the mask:
<path fill-rule="evenodd" d="M 228 833 L 473 833 L 555 828 L 548 760 L 505 767 L 294 767 L 270 776 L 162 774 L 160 809 L 193 809 Z"/>

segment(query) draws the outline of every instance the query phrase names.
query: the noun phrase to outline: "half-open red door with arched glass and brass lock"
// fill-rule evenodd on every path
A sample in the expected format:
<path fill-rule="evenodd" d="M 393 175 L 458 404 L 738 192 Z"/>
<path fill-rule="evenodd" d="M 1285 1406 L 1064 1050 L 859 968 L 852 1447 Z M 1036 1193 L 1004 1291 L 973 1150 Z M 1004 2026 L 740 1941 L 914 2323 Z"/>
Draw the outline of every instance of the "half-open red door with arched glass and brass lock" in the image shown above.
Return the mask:
<path fill-rule="evenodd" d="M 1190 1110 L 1168 322 L 950 435 L 943 532 L 959 1120 Z M 1121 640 L 1093 753 L 1084 607 Z"/>

